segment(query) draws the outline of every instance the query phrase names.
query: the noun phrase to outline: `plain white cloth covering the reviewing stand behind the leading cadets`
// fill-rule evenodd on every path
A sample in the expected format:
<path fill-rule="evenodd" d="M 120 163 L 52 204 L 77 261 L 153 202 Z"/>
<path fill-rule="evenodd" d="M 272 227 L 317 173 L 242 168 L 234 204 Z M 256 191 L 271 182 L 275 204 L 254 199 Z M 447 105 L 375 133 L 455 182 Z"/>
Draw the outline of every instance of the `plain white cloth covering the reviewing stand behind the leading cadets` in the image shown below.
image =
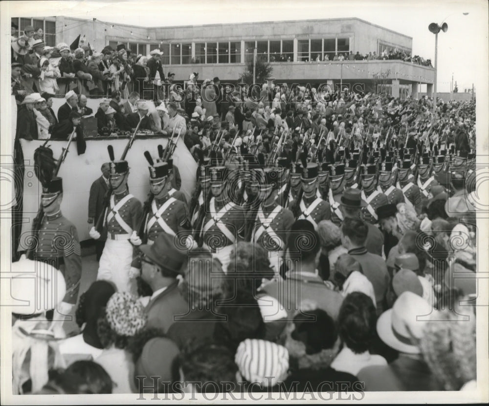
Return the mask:
<path fill-rule="evenodd" d="M 36 216 L 41 202 L 42 186 L 34 172 L 34 150 L 44 141 L 21 140 L 24 154 L 24 192 L 23 192 L 23 224 L 22 242 L 30 235 L 32 220 Z M 80 241 L 89 239 L 88 205 L 89 193 L 92 183 L 102 176 L 100 168 L 104 162 L 109 161 L 107 146 L 114 149 L 116 159 L 119 159 L 128 143 L 128 138 L 103 138 L 87 140 L 87 150 L 84 154 L 76 152 L 76 142 L 72 142 L 65 162 L 61 165 L 58 176 L 63 178 L 63 203 L 61 211 L 71 221 L 78 231 Z M 158 144 L 166 147 L 168 138 L 137 136 L 132 148 L 129 150 L 126 160 L 129 162 L 129 191 L 143 203 L 150 191 L 148 161 L 144 157 L 144 151 L 149 151 L 156 162 L 158 157 Z M 48 146 L 54 152 L 54 158 L 61 155 L 66 147 L 66 141 L 49 141 Z M 190 154 L 183 140 L 178 140 L 177 148 L 173 154 L 173 165 L 180 172 L 182 184 L 180 191 L 190 201 L 191 193 L 195 188 L 197 163 Z"/>

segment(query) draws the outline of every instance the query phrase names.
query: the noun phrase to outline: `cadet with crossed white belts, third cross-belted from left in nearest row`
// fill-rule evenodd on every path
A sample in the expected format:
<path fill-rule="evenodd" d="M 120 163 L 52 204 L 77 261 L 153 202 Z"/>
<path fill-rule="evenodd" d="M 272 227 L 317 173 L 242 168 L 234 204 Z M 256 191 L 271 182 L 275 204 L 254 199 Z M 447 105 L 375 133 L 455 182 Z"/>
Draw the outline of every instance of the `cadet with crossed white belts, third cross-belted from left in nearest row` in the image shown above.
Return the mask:
<path fill-rule="evenodd" d="M 226 167 L 208 167 L 212 197 L 202 223 L 203 247 L 216 254 L 223 269 L 235 243 L 244 239 L 244 210 L 229 198 Z"/>

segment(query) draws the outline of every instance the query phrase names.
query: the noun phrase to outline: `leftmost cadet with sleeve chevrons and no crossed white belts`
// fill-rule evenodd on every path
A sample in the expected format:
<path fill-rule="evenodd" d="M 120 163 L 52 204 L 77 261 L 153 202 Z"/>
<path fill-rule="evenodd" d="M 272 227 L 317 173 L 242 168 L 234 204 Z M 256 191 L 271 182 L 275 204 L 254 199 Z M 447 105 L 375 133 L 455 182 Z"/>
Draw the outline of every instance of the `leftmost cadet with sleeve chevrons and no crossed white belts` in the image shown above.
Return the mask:
<path fill-rule="evenodd" d="M 82 256 L 76 227 L 61 213 L 62 178 L 52 178 L 46 187 L 43 187 L 41 199 L 44 217 L 36 236 L 38 244 L 34 259 L 59 269 L 65 277 L 66 294 L 59 312 L 67 315 L 78 299 Z"/>

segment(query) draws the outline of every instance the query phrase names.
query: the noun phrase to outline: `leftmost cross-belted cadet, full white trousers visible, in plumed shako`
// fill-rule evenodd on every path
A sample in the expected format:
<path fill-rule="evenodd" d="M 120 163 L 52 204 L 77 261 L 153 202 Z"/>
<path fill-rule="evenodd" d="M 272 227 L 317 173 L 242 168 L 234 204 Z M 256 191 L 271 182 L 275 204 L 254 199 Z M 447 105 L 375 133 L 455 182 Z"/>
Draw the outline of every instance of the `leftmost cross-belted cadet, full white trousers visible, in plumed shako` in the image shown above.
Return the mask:
<path fill-rule="evenodd" d="M 107 242 L 99 261 L 97 280 L 111 280 L 119 292 L 135 293 L 136 285 L 130 278 L 131 263 L 135 248 L 130 242 L 133 231 L 141 223 L 143 211 L 141 202 L 127 188 L 129 165 L 127 161 L 115 161 L 112 146 L 108 147 L 111 158 L 111 196 L 104 213 L 104 227 L 107 228 Z M 92 227 L 90 237 L 100 238 L 100 233 Z"/>

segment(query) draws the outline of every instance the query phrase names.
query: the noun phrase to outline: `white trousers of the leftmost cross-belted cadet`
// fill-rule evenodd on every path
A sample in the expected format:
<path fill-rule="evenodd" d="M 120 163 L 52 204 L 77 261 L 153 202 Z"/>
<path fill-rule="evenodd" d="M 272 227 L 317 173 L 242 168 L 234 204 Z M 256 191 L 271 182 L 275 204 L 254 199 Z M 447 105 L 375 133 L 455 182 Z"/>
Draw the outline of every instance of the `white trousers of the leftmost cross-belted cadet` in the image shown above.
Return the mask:
<path fill-rule="evenodd" d="M 135 294 L 135 279 L 129 278 L 132 261 L 133 246 L 129 240 L 108 239 L 100 257 L 97 280 L 109 280 L 118 292 Z"/>

